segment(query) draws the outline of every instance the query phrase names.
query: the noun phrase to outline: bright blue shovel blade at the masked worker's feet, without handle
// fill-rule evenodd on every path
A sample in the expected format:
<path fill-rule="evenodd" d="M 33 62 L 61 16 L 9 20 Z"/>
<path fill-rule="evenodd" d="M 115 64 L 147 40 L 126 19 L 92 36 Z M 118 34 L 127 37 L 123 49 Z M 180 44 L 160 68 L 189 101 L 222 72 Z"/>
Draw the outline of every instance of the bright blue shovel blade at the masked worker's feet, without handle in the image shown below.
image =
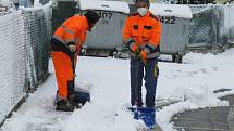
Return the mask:
<path fill-rule="evenodd" d="M 153 107 L 130 107 L 134 113 L 134 119 L 141 119 L 147 128 L 152 129 L 156 125 L 156 108 Z"/>

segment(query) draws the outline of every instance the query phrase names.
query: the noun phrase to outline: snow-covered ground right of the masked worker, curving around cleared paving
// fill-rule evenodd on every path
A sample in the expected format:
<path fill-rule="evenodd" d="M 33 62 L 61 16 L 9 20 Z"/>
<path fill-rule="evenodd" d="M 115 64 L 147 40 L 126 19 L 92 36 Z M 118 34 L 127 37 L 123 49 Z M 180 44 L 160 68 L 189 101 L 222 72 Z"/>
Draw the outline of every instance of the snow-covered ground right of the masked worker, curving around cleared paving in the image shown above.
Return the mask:
<path fill-rule="evenodd" d="M 230 74 L 230 70 L 234 68 L 233 54 L 234 49 L 219 55 L 190 53 L 184 57 L 182 65 L 160 63 L 161 77 L 157 92 L 158 97 L 165 99 L 176 95 L 186 100 L 158 112 L 157 119 L 164 129 L 172 127 L 169 121 L 177 113 L 229 105 L 218 97 L 233 94 L 233 91 L 221 94 L 213 94 L 213 91 L 225 88 L 234 89 L 233 77 Z"/>

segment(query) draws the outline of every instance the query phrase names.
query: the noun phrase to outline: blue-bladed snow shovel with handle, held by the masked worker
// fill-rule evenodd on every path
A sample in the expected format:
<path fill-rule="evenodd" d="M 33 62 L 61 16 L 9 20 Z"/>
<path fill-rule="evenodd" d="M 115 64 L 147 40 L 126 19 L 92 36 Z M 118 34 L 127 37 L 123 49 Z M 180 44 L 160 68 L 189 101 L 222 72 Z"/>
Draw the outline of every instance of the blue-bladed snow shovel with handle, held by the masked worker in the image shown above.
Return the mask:
<path fill-rule="evenodd" d="M 135 78 L 137 79 L 136 80 L 136 87 L 135 87 L 135 106 L 136 107 L 130 107 L 128 109 L 131 112 L 133 112 L 133 115 L 134 115 L 134 119 L 140 119 L 145 122 L 147 129 L 153 129 L 155 128 L 155 125 L 156 125 L 156 108 L 155 107 L 138 107 L 138 100 L 139 100 L 139 96 L 138 96 L 138 78 L 139 78 L 139 66 L 140 66 L 140 58 L 137 57 L 137 62 L 136 62 L 136 66 L 134 66 L 134 68 L 137 70 L 135 73 Z"/>

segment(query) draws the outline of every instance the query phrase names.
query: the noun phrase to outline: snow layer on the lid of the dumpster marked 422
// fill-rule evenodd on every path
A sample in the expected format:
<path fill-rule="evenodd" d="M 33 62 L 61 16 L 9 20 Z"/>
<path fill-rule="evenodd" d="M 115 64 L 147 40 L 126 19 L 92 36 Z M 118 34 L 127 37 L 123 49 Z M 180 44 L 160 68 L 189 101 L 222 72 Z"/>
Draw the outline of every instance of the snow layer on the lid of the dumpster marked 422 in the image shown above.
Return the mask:
<path fill-rule="evenodd" d="M 190 8 L 187 5 L 151 3 L 150 11 L 159 16 L 193 17 Z"/>

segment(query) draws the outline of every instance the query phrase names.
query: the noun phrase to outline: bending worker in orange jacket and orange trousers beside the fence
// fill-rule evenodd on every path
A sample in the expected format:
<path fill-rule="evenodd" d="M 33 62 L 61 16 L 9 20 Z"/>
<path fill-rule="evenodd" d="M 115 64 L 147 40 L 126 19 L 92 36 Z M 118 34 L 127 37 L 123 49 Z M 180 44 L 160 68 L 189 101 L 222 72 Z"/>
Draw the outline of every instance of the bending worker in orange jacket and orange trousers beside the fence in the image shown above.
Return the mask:
<path fill-rule="evenodd" d="M 52 36 L 50 45 L 58 83 L 58 110 L 73 110 L 77 105 L 74 102 L 76 56 L 86 40 L 86 31 L 91 31 L 98 19 L 99 15 L 93 11 L 88 11 L 84 16 L 74 15 Z"/>

